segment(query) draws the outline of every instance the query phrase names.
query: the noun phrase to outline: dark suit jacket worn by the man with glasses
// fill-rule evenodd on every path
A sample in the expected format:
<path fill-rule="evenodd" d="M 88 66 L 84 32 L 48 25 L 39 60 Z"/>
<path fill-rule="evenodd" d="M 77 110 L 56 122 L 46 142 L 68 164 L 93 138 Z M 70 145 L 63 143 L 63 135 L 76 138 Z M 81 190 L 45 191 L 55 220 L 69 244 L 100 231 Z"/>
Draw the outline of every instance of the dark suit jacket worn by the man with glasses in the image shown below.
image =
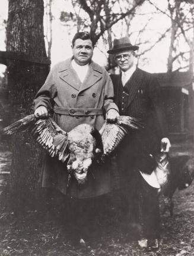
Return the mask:
<path fill-rule="evenodd" d="M 139 68 L 136 68 L 124 88 L 121 74 L 111 75 L 111 78 L 119 114 L 141 118 L 145 124 L 144 129 L 130 130 L 121 143 L 117 154 L 120 168 L 135 168 L 151 173 L 154 160 L 150 154 L 157 154 L 161 138 L 166 135 L 160 85 L 152 74 Z"/>

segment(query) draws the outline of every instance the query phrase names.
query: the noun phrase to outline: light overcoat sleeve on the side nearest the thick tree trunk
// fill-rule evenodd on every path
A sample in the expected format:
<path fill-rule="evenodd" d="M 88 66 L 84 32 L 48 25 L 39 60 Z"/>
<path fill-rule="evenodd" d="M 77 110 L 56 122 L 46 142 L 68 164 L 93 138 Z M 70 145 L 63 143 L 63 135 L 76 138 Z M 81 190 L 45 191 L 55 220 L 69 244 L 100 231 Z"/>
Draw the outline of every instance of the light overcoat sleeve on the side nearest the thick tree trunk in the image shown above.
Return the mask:
<path fill-rule="evenodd" d="M 34 98 L 35 110 L 40 106 L 44 106 L 48 111 L 51 111 L 53 108 L 53 98 L 56 93 L 55 68 L 53 68 L 50 70 L 44 85 L 40 88 Z"/>

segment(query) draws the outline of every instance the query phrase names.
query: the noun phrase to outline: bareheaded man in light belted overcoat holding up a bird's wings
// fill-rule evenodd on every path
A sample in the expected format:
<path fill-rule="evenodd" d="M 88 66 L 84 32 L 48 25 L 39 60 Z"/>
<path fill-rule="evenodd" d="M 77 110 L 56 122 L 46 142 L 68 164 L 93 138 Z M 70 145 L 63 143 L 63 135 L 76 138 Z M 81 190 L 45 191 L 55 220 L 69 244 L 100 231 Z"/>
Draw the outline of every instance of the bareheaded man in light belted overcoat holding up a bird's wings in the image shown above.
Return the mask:
<path fill-rule="evenodd" d="M 119 114 L 113 102 L 112 81 L 107 71 L 91 60 L 93 49 L 94 45 L 88 33 L 75 34 L 72 40 L 72 58 L 56 64 L 37 92 L 34 99 L 36 117 L 48 117 L 49 113 L 53 113 L 53 119 L 66 132 L 83 123 L 99 130 L 105 118 L 109 121 L 116 120 Z M 74 219 L 75 226 L 79 226 L 83 222 L 81 219 L 86 220 L 88 216 L 89 205 L 85 206 L 84 203 L 83 206 L 82 202 L 86 202 L 87 198 L 110 192 L 108 166 L 94 164 L 88 171 L 86 185 L 79 186 L 74 177 L 68 180 L 65 163 L 46 155 L 42 186 L 58 189 L 69 198 L 75 199 L 71 220 Z M 81 229 L 80 227 L 80 232 Z M 79 235 L 79 239 L 83 238 L 83 234 Z"/>

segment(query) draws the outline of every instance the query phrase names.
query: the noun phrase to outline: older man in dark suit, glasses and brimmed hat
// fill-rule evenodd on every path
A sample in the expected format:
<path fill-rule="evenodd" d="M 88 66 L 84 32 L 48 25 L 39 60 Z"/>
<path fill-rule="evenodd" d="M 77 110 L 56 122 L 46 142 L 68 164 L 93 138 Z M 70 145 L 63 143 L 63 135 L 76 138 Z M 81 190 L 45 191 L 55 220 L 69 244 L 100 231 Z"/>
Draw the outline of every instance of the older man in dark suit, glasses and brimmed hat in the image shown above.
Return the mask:
<path fill-rule="evenodd" d="M 111 75 L 119 114 L 141 118 L 145 125 L 142 130 L 132 130 L 117 152 L 125 227 L 130 221 L 125 231 L 140 230 L 139 240 L 144 239 L 139 244 L 154 250 L 160 237 L 160 214 L 152 171 L 164 137 L 164 116 L 157 79 L 136 67 L 138 48 L 124 37 L 115 39 L 107 52 L 114 55 L 121 70 L 119 75 Z"/>

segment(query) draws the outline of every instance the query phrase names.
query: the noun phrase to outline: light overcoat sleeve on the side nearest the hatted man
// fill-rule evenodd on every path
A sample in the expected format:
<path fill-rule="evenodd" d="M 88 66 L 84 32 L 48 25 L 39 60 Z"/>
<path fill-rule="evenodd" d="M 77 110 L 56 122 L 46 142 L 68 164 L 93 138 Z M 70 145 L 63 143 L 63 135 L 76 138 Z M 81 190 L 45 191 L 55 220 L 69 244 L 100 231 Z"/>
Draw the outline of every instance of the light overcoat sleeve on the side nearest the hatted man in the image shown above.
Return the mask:
<path fill-rule="evenodd" d="M 119 112 L 117 105 L 113 102 L 114 99 L 114 89 L 113 83 L 110 79 L 107 71 L 104 73 L 104 110 L 107 113 L 111 108 Z"/>

